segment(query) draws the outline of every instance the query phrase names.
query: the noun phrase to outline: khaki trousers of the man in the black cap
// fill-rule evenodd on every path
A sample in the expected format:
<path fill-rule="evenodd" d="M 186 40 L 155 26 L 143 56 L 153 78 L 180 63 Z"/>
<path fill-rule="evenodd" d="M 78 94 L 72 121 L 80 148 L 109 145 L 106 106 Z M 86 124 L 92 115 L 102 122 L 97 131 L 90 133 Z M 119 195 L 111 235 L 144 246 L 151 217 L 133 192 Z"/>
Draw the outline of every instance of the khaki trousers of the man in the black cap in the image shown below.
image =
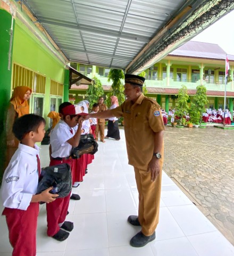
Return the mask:
<path fill-rule="evenodd" d="M 162 170 L 157 179 L 151 181 L 151 172 L 134 167 L 137 189 L 139 193 L 138 219 L 141 231 L 151 236 L 159 221 Z"/>

